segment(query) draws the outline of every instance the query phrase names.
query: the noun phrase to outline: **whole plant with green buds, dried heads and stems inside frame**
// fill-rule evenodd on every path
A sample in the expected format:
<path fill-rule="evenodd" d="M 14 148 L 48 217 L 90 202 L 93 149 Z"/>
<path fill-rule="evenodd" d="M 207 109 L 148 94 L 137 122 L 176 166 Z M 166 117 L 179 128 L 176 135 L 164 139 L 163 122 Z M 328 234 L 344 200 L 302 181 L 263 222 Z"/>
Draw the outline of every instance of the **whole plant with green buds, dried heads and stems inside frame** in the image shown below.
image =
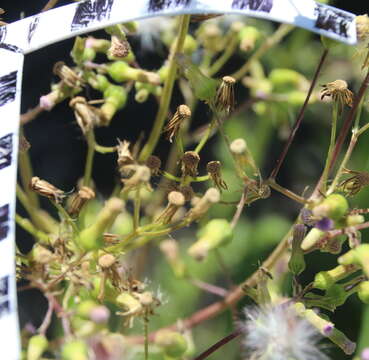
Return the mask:
<path fill-rule="evenodd" d="M 16 222 L 34 244 L 17 277 L 48 304 L 23 358 L 369 359 L 368 16 L 356 26 L 355 47 L 211 14 L 77 37 L 22 115 Z M 141 136 L 97 141 L 148 102 Z M 27 138 L 62 103 L 87 148 L 64 188 Z M 96 154 L 115 161 L 110 196 Z"/>

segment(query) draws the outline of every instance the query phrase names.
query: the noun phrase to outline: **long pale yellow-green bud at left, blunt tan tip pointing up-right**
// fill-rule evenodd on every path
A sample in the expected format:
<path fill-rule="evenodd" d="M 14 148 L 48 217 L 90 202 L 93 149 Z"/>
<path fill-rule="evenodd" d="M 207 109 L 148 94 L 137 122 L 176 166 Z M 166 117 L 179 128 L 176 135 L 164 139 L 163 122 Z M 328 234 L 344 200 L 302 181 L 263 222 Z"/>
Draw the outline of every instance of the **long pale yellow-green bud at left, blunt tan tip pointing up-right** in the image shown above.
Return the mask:
<path fill-rule="evenodd" d="M 105 203 L 94 224 L 80 233 L 78 243 L 84 250 L 97 250 L 101 247 L 103 233 L 113 224 L 122 211 L 123 204 L 124 202 L 118 198 L 111 198 Z"/>

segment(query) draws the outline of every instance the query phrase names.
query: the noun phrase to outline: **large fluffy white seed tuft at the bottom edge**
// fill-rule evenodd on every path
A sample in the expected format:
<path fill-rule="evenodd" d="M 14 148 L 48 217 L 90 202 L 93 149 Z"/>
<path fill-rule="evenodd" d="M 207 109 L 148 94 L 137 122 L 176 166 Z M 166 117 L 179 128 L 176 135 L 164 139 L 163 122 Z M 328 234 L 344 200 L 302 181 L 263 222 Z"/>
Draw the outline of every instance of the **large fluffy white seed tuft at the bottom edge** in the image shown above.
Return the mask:
<path fill-rule="evenodd" d="M 240 323 L 247 360 L 328 360 L 322 335 L 288 306 L 246 307 Z"/>

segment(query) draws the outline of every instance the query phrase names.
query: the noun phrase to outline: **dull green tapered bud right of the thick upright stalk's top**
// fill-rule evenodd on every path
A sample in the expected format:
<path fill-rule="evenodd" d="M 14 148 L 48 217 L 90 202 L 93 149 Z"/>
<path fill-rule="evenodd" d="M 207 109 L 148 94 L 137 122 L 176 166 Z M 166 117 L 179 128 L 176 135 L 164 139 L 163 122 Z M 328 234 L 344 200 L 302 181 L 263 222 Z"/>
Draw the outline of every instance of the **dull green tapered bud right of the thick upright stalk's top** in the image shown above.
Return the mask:
<path fill-rule="evenodd" d="M 176 61 L 184 76 L 190 82 L 195 97 L 202 101 L 211 101 L 214 99 L 218 81 L 205 76 L 200 69 L 194 65 L 184 54 L 177 54 Z"/>

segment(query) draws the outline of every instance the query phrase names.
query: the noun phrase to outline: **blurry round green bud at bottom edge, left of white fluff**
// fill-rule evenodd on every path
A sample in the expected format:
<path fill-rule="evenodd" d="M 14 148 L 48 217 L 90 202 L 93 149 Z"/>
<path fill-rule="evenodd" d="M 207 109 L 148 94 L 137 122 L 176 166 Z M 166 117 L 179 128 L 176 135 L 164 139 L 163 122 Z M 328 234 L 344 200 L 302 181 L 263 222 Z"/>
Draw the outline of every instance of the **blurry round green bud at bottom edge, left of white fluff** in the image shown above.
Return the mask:
<path fill-rule="evenodd" d="M 160 330 L 156 333 L 155 344 L 161 347 L 170 358 L 180 358 L 187 350 L 187 341 L 182 334 L 172 330 Z"/>

